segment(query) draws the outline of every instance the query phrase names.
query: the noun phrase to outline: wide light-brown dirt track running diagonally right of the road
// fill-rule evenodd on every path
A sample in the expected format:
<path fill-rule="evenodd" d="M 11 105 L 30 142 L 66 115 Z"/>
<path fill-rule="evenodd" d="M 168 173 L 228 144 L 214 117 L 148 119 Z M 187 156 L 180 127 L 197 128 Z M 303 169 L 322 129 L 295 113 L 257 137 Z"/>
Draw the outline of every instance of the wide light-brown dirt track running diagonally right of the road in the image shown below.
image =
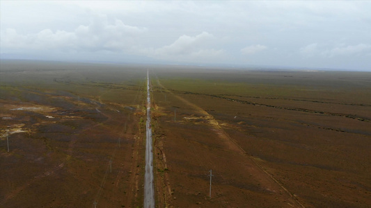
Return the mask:
<path fill-rule="evenodd" d="M 281 189 L 284 193 L 286 193 L 286 196 L 281 195 L 281 199 L 287 200 L 288 205 L 295 206 L 295 207 L 304 207 L 301 204 L 301 202 L 299 202 L 299 200 L 297 200 L 297 198 L 294 197 L 292 193 L 290 193 L 290 191 L 288 191 L 285 187 L 283 187 L 282 184 L 278 182 L 278 180 L 276 180 L 271 174 L 265 171 L 264 168 L 259 166 L 258 163 L 255 162 L 255 160 L 252 157 L 250 157 L 249 154 L 246 153 L 246 151 L 241 146 L 239 146 L 237 141 L 229 137 L 229 135 L 221 128 L 218 121 L 216 121 L 212 115 L 207 113 L 205 110 L 203 110 L 203 108 L 199 107 L 198 105 L 195 105 L 194 103 L 191 103 L 187 101 L 186 99 L 176 94 L 173 94 L 173 92 L 171 92 L 170 90 L 166 89 L 166 87 L 161 85 L 161 83 L 159 82 L 159 79 L 157 79 L 157 83 L 166 92 L 168 92 L 169 94 L 172 94 L 173 96 L 175 96 L 177 99 L 179 99 L 183 103 L 193 107 L 195 110 L 198 111 L 198 113 L 203 114 L 205 118 L 209 121 L 209 123 L 212 125 L 214 132 L 216 132 L 216 134 L 219 135 L 219 137 L 224 141 L 225 145 L 230 150 L 240 153 L 242 155 L 245 155 L 248 158 L 248 161 L 250 161 L 252 164 L 252 166 L 248 168 L 248 171 L 252 175 L 255 175 L 257 180 L 259 180 L 262 184 L 264 184 L 264 186 L 267 187 L 267 189 L 277 190 L 277 191 Z"/>

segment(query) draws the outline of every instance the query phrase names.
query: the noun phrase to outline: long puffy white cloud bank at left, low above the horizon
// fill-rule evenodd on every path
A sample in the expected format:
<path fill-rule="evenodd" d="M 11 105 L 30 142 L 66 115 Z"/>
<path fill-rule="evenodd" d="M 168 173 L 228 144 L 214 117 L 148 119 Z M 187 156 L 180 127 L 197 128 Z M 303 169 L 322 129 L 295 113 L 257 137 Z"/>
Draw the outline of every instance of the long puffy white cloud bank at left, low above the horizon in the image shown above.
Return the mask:
<path fill-rule="evenodd" d="M 88 25 L 74 31 L 44 29 L 38 33 L 19 34 L 8 28 L 1 33 L 1 47 L 5 49 L 34 49 L 59 51 L 127 51 L 138 35 L 147 28 L 129 26 L 120 19 L 114 23 L 104 16 L 96 16 Z"/>

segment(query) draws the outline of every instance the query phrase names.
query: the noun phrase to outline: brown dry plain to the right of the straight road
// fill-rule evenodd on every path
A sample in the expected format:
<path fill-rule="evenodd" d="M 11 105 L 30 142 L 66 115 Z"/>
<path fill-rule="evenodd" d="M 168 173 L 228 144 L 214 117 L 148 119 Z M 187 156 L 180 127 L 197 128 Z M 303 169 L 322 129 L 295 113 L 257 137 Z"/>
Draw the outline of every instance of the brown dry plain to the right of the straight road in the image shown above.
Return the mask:
<path fill-rule="evenodd" d="M 371 73 L 152 74 L 168 205 L 371 206 Z"/>

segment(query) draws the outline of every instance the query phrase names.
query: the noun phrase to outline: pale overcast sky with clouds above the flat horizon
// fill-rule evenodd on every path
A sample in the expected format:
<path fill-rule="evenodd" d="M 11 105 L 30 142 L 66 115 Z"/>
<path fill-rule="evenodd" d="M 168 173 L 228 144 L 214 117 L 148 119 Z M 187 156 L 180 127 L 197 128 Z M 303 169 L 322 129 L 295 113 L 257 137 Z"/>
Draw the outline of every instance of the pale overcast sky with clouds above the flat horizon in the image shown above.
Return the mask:
<path fill-rule="evenodd" d="M 0 1 L 1 58 L 371 71 L 371 1 Z"/>

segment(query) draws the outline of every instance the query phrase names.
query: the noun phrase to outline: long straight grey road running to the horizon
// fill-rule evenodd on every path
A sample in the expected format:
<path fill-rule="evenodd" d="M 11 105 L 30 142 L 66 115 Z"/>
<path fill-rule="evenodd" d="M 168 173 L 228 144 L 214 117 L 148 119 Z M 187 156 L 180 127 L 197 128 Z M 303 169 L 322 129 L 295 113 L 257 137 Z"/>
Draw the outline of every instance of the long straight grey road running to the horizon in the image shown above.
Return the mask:
<path fill-rule="evenodd" d="M 147 122 L 145 123 L 145 173 L 143 207 L 155 207 L 155 188 L 153 184 L 152 129 L 150 116 L 150 77 L 147 71 Z"/>

